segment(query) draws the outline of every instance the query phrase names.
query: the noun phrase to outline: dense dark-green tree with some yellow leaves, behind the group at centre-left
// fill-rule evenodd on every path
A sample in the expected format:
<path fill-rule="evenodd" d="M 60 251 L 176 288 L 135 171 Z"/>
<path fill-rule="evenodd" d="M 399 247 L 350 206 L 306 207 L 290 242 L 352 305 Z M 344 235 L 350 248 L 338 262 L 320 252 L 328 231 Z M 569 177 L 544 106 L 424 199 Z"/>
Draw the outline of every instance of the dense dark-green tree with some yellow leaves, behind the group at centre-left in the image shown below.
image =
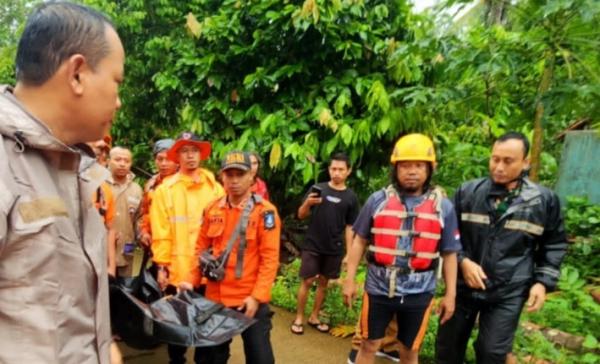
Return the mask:
<path fill-rule="evenodd" d="M 88 2 L 115 18 L 128 52 L 113 131 L 122 143 L 193 129 L 213 141 L 214 158 L 257 150 L 269 156 L 270 185 L 286 186 L 275 199 L 287 201 L 327 178 L 336 150 L 358 163 L 364 186 L 401 132 L 433 131 L 417 86 L 436 41 L 423 40 L 426 58 L 405 57 L 422 47 L 404 1 Z"/>

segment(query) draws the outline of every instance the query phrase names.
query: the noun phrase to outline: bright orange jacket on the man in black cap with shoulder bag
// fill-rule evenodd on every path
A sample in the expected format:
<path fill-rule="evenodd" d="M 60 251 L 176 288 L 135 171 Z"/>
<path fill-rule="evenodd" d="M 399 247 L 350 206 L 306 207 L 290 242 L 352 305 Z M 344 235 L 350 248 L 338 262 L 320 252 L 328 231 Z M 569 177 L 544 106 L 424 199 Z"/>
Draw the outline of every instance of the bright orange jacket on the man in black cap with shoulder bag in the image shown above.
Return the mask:
<path fill-rule="evenodd" d="M 232 207 L 223 197 L 206 208 L 198 237 L 198 254 L 212 247 L 214 256 L 221 255 L 241 218 L 244 205 Z M 206 298 L 228 307 L 241 305 L 248 296 L 268 303 L 279 266 L 280 232 L 277 209 L 269 201 L 259 199 L 248 219 L 242 277 L 235 277 L 238 241 L 227 261 L 225 278 L 221 282 L 208 281 Z"/>

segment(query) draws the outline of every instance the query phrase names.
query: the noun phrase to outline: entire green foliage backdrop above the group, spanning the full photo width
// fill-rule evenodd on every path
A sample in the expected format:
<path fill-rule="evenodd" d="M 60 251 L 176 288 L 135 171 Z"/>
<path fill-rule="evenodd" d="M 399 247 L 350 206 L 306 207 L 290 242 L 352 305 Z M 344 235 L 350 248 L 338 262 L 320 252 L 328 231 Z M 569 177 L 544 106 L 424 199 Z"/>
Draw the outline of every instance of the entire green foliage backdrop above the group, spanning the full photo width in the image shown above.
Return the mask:
<path fill-rule="evenodd" d="M 327 178 L 336 150 L 350 154 L 362 199 L 387 184 L 405 132 L 434 136 L 436 181 L 449 192 L 487 174 L 495 137 L 531 135 L 548 50 L 556 62 L 543 95 L 544 183 L 556 178 L 559 152 L 548 137 L 598 115 L 600 5 L 589 0 L 521 1 L 495 26 L 447 26 L 448 17 L 413 14 L 404 0 L 84 2 L 113 18 L 127 51 L 112 132 L 136 164 L 150 169 L 149 144 L 184 129 L 213 142 L 210 166 L 229 149 L 256 150 L 284 215 L 296 208 L 290 197 Z M 0 53 L 5 81 L 14 43 Z"/>

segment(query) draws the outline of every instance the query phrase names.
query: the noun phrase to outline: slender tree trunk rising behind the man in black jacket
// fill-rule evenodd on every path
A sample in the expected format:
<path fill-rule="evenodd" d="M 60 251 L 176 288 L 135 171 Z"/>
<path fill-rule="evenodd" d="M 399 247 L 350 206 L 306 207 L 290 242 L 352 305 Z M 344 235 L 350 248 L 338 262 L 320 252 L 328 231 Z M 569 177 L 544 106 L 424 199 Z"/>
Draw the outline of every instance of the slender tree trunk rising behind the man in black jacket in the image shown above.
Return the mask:
<path fill-rule="evenodd" d="M 542 154 L 542 145 L 544 142 L 544 128 L 542 120 L 544 118 L 543 97 L 550 89 L 552 77 L 554 75 L 554 52 L 548 49 L 544 54 L 544 71 L 538 88 L 538 94 L 535 100 L 535 117 L 533 119 L 533 140 L 531 143 L 531 170 L 529 177 L 532 181 L 538 181 L 540 172 L 540 156 Z"/>

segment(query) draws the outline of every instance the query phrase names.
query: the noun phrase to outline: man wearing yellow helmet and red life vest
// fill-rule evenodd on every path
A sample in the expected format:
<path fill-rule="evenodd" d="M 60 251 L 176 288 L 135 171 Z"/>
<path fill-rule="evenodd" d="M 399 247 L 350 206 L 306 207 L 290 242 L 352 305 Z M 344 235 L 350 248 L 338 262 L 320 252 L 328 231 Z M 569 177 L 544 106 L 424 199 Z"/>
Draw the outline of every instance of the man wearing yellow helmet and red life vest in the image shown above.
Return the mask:
<path fill-rule="evenodd" d="M 356 295 L 355 276 L 367 251 L 367 278 L 361 313 L 361 343 L 356 363 L 374 363 L 375 353 L 393 317 L 398 324 L 400 362 L 417 363 L 435 292 L 440 253 L 446 294 L 441 322 L 454 312 L 456 252 L 461 249 L 452 203 L 430 186 L 435 169 L 433 142 L 409 134 L 396 142 L 391 156 L 392 183 L 367 200 L 353 225 L 344 301 Z"/>

